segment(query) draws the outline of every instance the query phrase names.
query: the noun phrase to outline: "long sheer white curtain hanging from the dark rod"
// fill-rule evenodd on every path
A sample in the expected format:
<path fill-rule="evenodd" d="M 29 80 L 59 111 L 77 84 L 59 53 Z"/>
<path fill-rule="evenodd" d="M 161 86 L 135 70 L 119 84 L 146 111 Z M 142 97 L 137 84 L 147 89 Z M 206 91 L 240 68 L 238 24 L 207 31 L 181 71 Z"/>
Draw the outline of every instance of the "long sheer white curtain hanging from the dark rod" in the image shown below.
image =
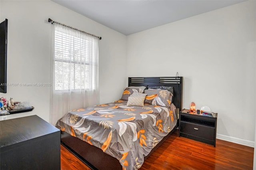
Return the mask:
<path fill-rule="evenodd" d="M 50 123 L 99 103 L 97 38 L 54 24 Z"/>

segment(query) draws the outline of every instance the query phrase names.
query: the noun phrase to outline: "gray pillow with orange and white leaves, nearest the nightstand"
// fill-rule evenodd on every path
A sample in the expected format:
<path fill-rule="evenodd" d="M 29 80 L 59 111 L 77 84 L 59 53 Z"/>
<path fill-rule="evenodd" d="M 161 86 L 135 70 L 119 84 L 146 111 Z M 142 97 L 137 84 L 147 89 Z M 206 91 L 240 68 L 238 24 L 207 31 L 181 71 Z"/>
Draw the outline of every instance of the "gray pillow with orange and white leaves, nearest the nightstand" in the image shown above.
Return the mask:
<path fill-rule="evenodd" d="M 155 90 L 145 90 L 148 95 L 144 103 L 150 105 L 160 105 L 165 107 L 170 107 L 172 94 L 170 91 L 155 89 Z"/>

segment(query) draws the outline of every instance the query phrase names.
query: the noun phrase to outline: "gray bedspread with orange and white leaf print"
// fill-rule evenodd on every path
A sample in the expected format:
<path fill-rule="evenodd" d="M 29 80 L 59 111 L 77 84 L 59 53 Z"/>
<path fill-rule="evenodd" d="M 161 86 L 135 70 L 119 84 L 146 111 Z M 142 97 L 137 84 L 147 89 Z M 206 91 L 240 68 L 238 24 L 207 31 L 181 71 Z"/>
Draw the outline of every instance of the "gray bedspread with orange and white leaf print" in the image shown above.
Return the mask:
<path fill-rule="evenodd" d="M 152 148 L 176 125 L 175 106 L 127 107 L 127 101 L 75 109 L 56 127 L 117 158 L 123 169 L 138 169 Z"/>

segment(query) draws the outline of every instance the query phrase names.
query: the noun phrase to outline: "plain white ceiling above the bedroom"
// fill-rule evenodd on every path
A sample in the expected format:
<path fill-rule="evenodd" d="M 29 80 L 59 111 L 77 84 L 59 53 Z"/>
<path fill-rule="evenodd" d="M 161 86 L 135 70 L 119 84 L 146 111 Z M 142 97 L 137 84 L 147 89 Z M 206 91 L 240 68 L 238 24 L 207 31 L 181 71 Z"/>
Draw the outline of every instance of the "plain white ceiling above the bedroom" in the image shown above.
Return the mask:
<path fill-rule="evenodd" d="M 53 1 L 124 35 L 130 35 L 244 0 Z"/>

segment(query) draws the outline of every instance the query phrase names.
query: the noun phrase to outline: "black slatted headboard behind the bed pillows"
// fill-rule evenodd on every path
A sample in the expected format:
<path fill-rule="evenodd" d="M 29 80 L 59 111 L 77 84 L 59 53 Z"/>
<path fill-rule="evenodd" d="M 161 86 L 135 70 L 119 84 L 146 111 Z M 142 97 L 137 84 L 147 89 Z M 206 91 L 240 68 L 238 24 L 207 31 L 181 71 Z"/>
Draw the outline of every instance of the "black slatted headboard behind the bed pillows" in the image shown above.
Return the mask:
<path fill-rule="evenodd" d="M 172 86 L 173 103 L 182 110 L 183 77 L 128 77 L 128 86 Z"/>

